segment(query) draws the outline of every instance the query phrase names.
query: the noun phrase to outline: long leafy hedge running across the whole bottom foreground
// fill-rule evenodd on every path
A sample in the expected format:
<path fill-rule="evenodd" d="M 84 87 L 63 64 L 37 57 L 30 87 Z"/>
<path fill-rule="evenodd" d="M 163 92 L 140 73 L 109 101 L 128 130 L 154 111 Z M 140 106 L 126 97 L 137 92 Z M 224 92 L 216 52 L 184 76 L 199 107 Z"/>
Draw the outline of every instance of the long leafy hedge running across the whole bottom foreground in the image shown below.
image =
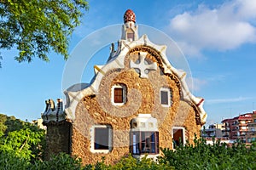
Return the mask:
<path fill-rule="evenodd" d="M 71 169 L 71 170 L 108 170 L 108 169 L 256 169 L 256 143 L 250 147 L 237 141 L 231 147 L 215 141 L 213 145 L 205 139 L 195 139 L 195 145 L 186 144 L 177 150 L 162 149 L 164 156 L 155 162 L 144 157 L 141 161 L 131 155 L 122 158 L 115 165 L 102 161 L 95 165 L 81 164 L 81 160 L 67 154 L 51 156 L 49 161 L 30 162 L 15 154 L 1 152 L 0 169 Z"/>

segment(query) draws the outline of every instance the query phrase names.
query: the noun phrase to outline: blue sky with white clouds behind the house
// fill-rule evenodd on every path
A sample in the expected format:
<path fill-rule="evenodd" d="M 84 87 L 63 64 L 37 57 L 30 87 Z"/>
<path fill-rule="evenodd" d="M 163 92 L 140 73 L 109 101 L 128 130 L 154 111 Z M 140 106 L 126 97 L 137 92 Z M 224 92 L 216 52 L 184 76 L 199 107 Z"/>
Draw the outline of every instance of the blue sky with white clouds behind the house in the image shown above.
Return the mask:
<path fill-rule="evenodd" d="M 137 25 L 152 26 L 177 42 L 190 67 L 191 91 L 206 100 L 207 124 L 256 110 L 256 0 L 89 3 L 83 23 L 70 38 L 70 53 L 92 32 L 122 24 L 125 10 L 131 8 Z M 14 49 L 1 54 L 0 113 L 32 121 L 44 111 L 45 99 L 64 98 L 66 61 L 61 55 L 49 54 L 49 63 L 34 59 L 27 64 L 14 60 Z M 93 65 L 108 59 L 108 50 L 98 56 L 84 70 L 83 82 L 90 81 Z"/>

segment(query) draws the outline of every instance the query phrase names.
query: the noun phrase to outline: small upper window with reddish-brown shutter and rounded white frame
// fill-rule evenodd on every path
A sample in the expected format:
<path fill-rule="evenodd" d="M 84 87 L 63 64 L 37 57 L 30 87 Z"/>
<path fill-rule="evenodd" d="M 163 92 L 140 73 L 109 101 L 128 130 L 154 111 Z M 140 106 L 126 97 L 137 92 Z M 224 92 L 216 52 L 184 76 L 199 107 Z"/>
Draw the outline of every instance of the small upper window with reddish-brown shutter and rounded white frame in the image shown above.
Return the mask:
<path fill-rule="evenodd" d="M 113 105 L 124 105 L 126 102 L 126 86 L 125 84 L 116 84 L 112 87 L 112 103 Z"/>

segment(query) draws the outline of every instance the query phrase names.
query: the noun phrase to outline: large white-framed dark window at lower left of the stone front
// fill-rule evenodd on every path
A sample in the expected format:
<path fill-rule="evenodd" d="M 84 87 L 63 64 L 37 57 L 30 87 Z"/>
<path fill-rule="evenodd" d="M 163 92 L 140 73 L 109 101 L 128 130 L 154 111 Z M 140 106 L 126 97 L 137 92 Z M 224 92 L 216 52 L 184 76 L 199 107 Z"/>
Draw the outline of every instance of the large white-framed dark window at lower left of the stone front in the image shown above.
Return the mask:
<path fill-rule="evenodd" d="M 112 150 L 112 128 L 108 125 L 95 125 L 91 128 L 91 152 L 108 153 Z"/>

